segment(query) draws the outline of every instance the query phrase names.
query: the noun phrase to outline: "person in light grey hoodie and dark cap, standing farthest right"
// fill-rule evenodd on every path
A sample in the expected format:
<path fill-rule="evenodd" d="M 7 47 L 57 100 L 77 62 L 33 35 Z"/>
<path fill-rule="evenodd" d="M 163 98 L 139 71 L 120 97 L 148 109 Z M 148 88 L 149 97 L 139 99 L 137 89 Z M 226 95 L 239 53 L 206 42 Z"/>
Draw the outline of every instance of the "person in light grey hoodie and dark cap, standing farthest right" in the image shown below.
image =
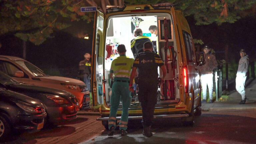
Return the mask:
<path fill-rule="evenodd" d="M 240 50 L 240 56 L 241 58 L 239 60 L 238 70 L 236 73 L 236 91 L 242 96 L 242 100 L 239 104 L 245 104 L 248 99 L 245 97 L 244 84 L 247 76 L 249 57 L 246 55 L 244 49 Z"/>

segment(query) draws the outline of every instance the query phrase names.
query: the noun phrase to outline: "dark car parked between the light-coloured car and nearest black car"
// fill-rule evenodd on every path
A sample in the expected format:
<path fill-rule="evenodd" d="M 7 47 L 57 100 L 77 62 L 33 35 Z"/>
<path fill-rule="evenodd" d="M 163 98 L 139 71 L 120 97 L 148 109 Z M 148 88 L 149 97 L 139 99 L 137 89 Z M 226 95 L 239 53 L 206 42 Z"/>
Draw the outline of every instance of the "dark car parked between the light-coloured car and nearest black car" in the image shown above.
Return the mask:
<path fill-rule="evenodd" d="M 47 87 L 19 83 L 0 71 L 0 83 L 3 87 L 43 103 L 47 112 L 47 122 L 55 123 L 76 119 L 79 103 L 70 92 Z"/>

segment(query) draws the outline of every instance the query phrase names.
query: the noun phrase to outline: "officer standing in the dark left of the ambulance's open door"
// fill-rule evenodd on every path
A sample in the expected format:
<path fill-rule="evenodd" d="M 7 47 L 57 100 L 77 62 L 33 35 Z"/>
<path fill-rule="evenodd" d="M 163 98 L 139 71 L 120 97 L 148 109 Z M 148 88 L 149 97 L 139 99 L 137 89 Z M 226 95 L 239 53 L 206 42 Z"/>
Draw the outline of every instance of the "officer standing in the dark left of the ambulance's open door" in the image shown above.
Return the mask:
<path fill-rule="evenodd" d="M 85 53 L 84 60 L 79 62 L 79 78 L 83 79 L 88 90 L 91 92 L 91 54 Z"/>

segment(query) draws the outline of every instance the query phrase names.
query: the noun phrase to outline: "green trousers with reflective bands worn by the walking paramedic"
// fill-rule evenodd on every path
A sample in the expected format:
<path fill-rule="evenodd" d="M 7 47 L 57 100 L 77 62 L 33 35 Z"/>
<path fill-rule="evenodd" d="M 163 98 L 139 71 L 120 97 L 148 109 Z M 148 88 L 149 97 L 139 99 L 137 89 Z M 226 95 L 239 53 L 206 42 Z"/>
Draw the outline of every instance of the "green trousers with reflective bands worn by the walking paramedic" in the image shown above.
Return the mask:
<path fill-rule="evenodd" d="M 129 91 L 129 78 L 114 78 L 114 83 L 112 85 L 112 94 L 110 97 L 110 114 L 108 120 L 109 129 L 114 126 L 116 128 L 116 113 L 118 106 L 120 104 L 120 98 L 122 99 L 122 116 L 119 122 L 119 129 L 126 130 L 128 124 L 128 109 L 131 105 L 131 92 Z"/>

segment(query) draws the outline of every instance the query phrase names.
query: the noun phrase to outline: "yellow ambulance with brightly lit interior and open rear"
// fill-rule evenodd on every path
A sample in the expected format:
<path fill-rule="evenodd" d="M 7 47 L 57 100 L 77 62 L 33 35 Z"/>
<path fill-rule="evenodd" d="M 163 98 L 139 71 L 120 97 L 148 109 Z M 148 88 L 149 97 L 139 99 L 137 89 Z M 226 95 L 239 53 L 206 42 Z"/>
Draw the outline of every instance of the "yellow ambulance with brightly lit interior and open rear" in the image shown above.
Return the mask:
<path fill-rule="evenodd" d="M 187 20 L 171 3 L 107 6 L 106 13 L 95 11 L 92 46 L 92 104 L 99 109 L 102 124 L 108 129 L 110 113 L 110 68 L 118 55 L 105 54 L 109 46 L 124 44 L 126 56 L 133 57 L 129 49 L 133 31 L 139 27 L 153 42 L 153 47 L 169 70 L 165 83 L 160 85 L 154 118 L 181 118 L 185 125 L 193 125 L 194 115 L 201 114 L 201 81 L 193 38 Z M 132 24 L 132 25 L 131 25 Z M 157 36 L 151 35 L 150 25 L 157 27 Z M 153 40 L 155 39 L 155 40 Z M 199 56 L 198 58 L 202 58 Z M 200 63 L 200 61 L 202 63 Z M 144 63 L 144 61 L 142 61 Z M 159 75 L 162 75 L 159 70 Z M 120 120 L 122 104 L 117 110 Z M 142 119 L 141 103 L 137 95 L 129 107 L 129 119 Z"/>

